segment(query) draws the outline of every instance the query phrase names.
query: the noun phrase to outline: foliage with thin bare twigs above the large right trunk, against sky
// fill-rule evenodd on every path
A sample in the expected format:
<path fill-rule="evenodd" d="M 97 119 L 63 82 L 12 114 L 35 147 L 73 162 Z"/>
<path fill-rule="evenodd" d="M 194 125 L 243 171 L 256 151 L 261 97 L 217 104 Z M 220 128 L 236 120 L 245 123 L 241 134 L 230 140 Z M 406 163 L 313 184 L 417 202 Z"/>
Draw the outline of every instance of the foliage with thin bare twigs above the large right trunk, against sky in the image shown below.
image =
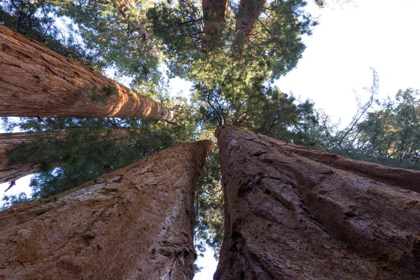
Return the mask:
<path fill-rule="evenodd" d="M 344 130 L 337 130 L 323 116 L 316 127 L 316 145 L 356 160 L 420 170 L 419 94 L 419 90 L 400 90 L 395 101 L 384 99 L 375 111 L 370 107 L 371 96 Z"/>

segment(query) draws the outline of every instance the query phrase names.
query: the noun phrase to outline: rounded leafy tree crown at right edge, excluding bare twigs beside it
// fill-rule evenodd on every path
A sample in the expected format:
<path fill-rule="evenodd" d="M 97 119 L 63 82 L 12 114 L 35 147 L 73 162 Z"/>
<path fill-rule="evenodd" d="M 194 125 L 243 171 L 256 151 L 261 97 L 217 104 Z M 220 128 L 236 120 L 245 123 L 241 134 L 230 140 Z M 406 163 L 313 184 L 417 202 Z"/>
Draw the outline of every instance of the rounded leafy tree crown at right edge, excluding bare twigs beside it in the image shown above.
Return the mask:
<path fill-rule="evenodd" d="M 376 162 L 420 169 L 420 91 L 398 91 L 358 125 L 355 148 Z"/>

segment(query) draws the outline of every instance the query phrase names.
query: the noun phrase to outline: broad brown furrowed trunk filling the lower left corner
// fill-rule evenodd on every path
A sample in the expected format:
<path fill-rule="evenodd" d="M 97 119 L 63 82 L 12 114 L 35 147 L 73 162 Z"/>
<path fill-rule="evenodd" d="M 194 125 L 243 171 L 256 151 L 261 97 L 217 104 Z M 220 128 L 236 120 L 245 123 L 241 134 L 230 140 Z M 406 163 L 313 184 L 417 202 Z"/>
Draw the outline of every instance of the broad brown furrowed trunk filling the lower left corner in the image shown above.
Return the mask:
<path fill-rule="evenodd" d="M 194 192 L 211 141 L 0 212 L 0 279 L 192 279 Z"/>

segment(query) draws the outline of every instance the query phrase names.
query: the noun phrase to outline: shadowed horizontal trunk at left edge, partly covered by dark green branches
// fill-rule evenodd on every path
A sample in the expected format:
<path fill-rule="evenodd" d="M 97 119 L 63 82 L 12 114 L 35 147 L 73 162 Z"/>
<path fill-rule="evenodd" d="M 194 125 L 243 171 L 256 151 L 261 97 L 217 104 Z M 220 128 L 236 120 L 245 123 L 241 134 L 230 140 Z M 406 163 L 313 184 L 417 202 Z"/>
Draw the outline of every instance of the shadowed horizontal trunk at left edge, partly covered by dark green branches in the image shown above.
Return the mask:
<path fill-rule="evenodd" d="M 78 142 L 76 148 L 73 143 Z M 72 161 L 71 155 L 83 153 L 109 153 L 121 149 L 130 150 L 137 144 L 134 133 L 126 129 L 116 130 L 54 130 L 40 132 L 20 132 L 0 134 L 0 183 L 11 182 L 36 172 L 48 171 Z M 94 149 L 94 151 L 90 151 Z M 108 155 L 109 156 L 109 155 Z M 97 157 L 99 159 L 100 157 Z M 115 169 L 99 160 L 104 167 Z M 91 169 L 92 171 L 92 169 Z M 99 175 L 99 174 L 95 174 Z"/>

